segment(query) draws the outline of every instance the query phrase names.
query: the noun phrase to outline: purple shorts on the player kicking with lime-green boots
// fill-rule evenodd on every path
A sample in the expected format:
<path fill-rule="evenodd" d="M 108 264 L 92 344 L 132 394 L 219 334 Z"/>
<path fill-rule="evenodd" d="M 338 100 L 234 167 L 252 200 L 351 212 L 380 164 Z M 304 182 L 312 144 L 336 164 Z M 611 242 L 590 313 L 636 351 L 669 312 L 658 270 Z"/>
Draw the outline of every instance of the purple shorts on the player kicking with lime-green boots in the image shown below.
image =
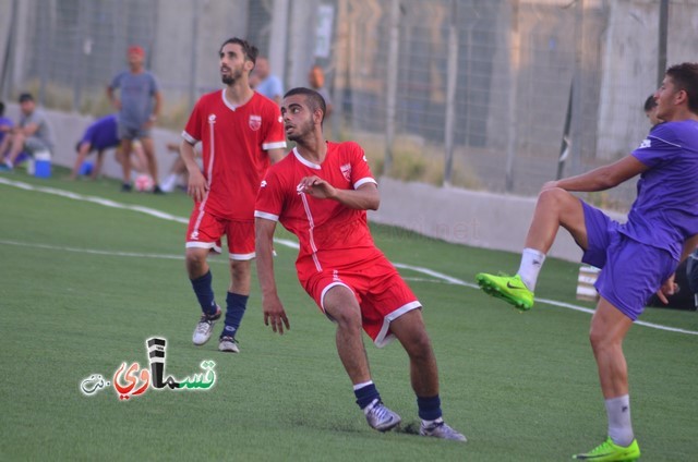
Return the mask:
<path fill-rule="evenodd" d="M 601 296 L 633 320 L 678 262 L 669 252 L 642 244 L 621 232 L 621 223 L 581 200 L 589 248 L 581 260 L 602 268 L 594 283 Z"/>

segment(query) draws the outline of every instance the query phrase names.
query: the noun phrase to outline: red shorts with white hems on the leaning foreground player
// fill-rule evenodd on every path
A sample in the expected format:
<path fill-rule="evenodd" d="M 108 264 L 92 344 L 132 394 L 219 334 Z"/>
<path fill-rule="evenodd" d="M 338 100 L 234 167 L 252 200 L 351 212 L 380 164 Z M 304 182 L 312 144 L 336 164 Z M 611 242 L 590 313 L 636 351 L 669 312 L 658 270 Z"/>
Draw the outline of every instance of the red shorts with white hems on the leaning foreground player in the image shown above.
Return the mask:
<path fill-rule="evenodd" d="M 329 289 L 345 285 L 351 290 L 361 306 L 363 330 L 376 346 L 394 339 L 390 321 L 422 306 L 385 257 L 348 270 L 325 269 L 301 284 L 323 312 L 323 299 Z"/>

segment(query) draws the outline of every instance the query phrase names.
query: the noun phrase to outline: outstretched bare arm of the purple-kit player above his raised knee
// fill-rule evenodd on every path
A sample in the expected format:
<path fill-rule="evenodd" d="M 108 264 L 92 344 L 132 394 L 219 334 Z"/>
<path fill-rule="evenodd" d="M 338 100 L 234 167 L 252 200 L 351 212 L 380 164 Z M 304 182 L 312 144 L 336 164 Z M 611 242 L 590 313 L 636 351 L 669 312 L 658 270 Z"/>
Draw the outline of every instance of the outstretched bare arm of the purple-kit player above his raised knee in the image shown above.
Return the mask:
<path fill-rule="evenodd" d="M 599 167 L 587 173 L 557 181 L 549 181 L 543 184 L 541 191 L 552 187 L 562 187 L 565 191 L 579 192 L 605 191 L 637 177 L 647 169 L 648 167 L 637 160 L 635 156 L 626 156 L 616 162 Z"/>

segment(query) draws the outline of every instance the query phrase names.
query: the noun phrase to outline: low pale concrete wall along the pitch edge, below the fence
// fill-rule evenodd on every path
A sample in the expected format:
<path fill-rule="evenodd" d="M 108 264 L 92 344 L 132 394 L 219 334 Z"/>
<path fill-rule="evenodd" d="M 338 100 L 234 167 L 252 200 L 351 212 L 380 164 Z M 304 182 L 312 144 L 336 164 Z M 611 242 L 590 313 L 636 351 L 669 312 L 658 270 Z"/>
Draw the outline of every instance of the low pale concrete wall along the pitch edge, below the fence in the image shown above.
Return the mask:
<path fill-rule="evenodd" d="M 53 163 L 72 167 L 74 146 L 92 118 L 75 113 L 47 111 L 55 130 Z M 7 115 L 17 120 L 17 105 L 9 105 Z M 174 160 L 167 153 L 166 143 L 179 143 L 179 133 L 156 129 L 154 141 L 160 179 Z M 113 156 L 107 155 L 104 173 L 121 178 L 121 169 Z M 378 223 L 397 226 L 431 238 L 476 247 L 520 252 L 535 207 L 534 197 L 519 197 L 455 187 L 436 187 L 423 183 L 404 183 L 389 178 L 380 179 L 381 207 L 369 218 Z M 621 214 L 609 212 L 624 221 Z M 551 256 L 578 262 L 581 251 L 566 231 L 561 231 Z"/>

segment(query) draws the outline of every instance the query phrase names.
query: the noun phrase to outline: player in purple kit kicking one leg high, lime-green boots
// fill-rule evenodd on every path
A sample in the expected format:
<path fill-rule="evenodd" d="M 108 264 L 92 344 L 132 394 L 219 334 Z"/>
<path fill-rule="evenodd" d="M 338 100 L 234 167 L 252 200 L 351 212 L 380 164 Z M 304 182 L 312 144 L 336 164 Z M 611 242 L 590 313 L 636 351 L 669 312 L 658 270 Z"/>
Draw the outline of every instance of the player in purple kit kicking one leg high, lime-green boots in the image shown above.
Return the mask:
<path fill-rule="evenodd" d="M 602 268 L 601 299 L 589 338 L 609 417 L 604 442 L 575 459 L 630 461 L 640 457 L 630 424 L 623 339 L 654 292 L 666 303 L 674 270 L 698 246 L 698 63 L 666 71 L 654 93 L 663 120 L 629 156 L 590 172 L 551 181 L 538 197 L 516 276 L 477 276 L 490 295 L 519 309 L 533 306 L 533 290 L 559 227 L 585 251 L 582 262 Z M 640 175 L 637 198 L 621 224 L 570 191 L 614 187 Z"/>

